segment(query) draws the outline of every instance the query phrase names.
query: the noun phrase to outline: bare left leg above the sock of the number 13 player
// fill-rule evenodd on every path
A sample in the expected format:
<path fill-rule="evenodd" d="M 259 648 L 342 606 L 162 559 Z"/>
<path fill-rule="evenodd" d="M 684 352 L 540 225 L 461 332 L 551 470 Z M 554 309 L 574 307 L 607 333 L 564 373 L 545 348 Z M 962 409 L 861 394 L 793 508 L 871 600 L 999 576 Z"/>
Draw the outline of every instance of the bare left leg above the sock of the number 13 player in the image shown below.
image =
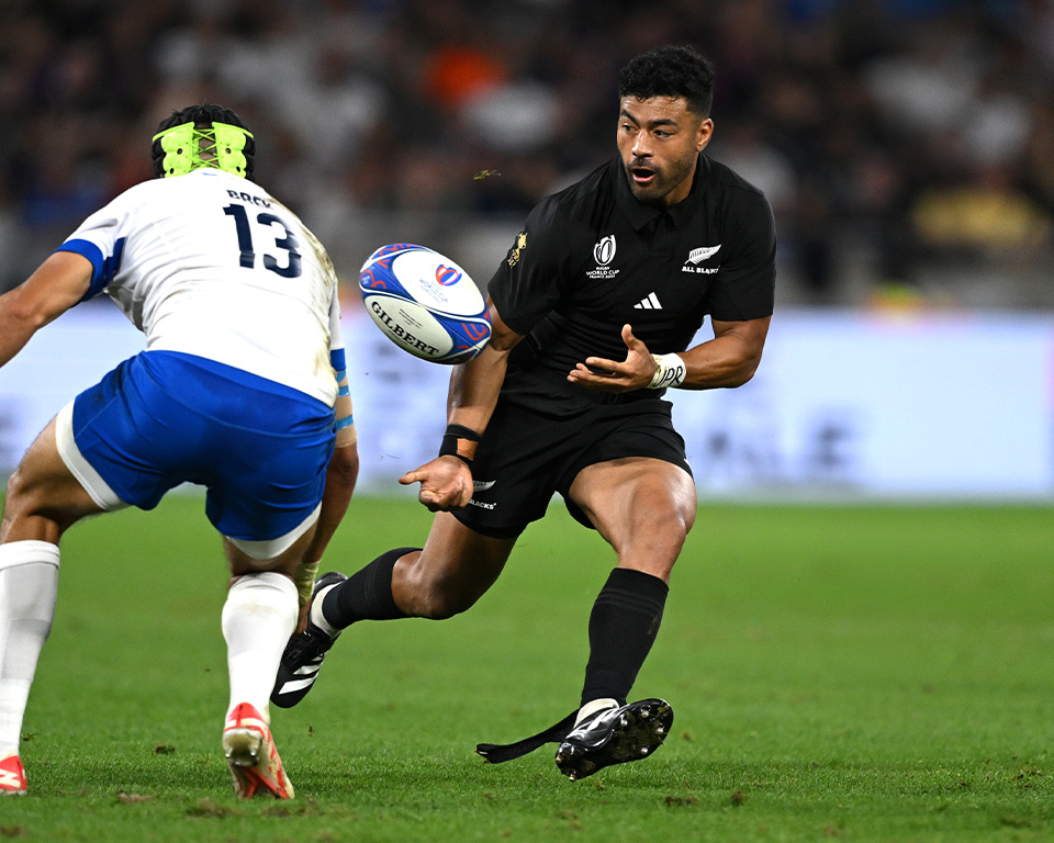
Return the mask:
<path fill-rule="evenodd" d="M 56 420 L 34 440 L 8 481 L 0 541 L 49 541 L 79 519 L 103 512 L 58 453 Z"/>

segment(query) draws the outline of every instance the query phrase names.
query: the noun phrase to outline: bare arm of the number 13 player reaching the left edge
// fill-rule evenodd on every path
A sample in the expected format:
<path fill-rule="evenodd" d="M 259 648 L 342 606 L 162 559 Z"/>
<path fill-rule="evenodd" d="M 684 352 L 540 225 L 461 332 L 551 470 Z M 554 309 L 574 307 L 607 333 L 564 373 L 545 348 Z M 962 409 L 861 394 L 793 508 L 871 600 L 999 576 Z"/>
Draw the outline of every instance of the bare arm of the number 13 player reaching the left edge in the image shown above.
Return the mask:
<path fill-rule="evenodd" d="M 0 295 L 0 366 L 83 299 L 91 285 L 91 269 L 87 258 L 56 251 L 22 284 Z"/>

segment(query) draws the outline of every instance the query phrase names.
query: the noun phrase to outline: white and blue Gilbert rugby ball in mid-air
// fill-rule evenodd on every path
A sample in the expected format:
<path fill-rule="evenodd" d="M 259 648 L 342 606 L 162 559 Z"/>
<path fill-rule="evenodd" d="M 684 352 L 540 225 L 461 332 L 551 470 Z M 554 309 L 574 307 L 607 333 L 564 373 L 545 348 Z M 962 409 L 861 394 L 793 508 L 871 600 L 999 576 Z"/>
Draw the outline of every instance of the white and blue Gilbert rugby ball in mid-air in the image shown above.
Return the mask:
<path fill-rule="evenodd" d="M 486 303 L 475 282 L 425 246 L 382 246 L 359 270 L 359 290 L 381 331 L 422 360 L 463 363 L 491 338 Z"/>

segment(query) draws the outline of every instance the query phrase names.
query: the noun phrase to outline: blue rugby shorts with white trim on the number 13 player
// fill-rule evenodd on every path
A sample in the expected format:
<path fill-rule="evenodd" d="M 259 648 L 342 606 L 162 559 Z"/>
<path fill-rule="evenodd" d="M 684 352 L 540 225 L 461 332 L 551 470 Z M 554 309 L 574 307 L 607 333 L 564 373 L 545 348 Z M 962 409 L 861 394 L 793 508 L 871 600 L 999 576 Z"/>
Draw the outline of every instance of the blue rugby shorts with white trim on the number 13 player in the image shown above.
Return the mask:
<path fill-rule="evenodd" d="M 78 395 L 75 448 L 58 427 L 63 459 L 104 509 L 153 509 L 169 490 L 197 483 L 208 490 L 209 520 L 247 542 L 311 526 L 334 447 L 325 403 L 172 351 L 136 355 Z"/>

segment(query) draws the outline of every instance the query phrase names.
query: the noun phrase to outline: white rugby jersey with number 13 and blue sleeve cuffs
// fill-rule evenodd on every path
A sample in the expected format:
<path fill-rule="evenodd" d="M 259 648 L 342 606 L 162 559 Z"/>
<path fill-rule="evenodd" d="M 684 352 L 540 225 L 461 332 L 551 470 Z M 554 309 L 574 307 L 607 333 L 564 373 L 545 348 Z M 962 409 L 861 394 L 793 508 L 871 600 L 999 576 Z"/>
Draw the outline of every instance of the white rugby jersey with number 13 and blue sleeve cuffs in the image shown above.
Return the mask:
<path fill-rule="evenodd" d="M 57 250 L 91 261 L 85 299 L 106 292 L 148 350 L 215 360 L 333 405 L 330 361 L 344 368 L 336 272 L 258 184 L 212 169 L 143 182 Z"/>

